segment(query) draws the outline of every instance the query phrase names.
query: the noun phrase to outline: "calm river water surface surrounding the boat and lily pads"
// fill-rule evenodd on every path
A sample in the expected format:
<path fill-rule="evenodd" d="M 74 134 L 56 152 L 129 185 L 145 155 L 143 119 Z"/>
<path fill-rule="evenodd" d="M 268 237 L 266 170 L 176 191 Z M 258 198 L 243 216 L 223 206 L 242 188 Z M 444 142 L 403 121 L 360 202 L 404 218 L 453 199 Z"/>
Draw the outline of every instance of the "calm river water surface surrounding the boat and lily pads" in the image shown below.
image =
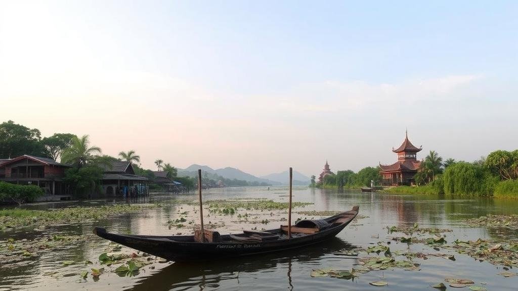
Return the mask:
<path fill-rule="evenodd" d="M 236 197 L 271 198 L 275 201 L 286 201 L 286 188 L 223 188 L 208 190 L 205 199 L 225 199 Z M 195 199 L 194 195 L 176 197 L 153 196 L 146 202 L 163 201 L 163 207 L 151 209 L 144 214 L 131 214 L 112 217 L 105 221 L 84 223 L 72 226 L 51 227 L 43 231 L 21 229 L 0 233 L 0 240 L 7 238 L 32 239 L 34 236 L 49 234 L 88 235 L 87 242 L 78 248 L 65 251 L 54 251 L 42 254 L 37 260 L 0 266 L 0 290 L 38 289 L 38 290 L 434 290 L 430 284 L 444 282 L 444 278 L 466 278 L 476 283 L 486 282 L 488 290 L 517 290 L 518 277 L 503 278 L 497 273 L 502 272 L 499 266 L 474 260 L 469 256 L 452 251 L 441 250 L 442 253 L 455 254 L 455 261 L 439 257 L 427 260 L 415 259 L 421 264 L 420 271 L 405 271 L 402 269 L 371 271 L 361 274 L 354 281 L 335 278 L 311 278 L 312 269 L 332 267 L 347 270 L 354 268 L 357 263 L 354 258 L 344 258 L 334 255 L 334 252 L 367 248 L 371 243 L 391 241 L 394 236 L 386 232 L 386 226 L 412 225 L 418 223 L 422 227 L 450 228 L 453 232 L 447 234 L 447 241 L 456 238 L 474 240 L 478 238 L 518 238 L 516 231 L 498 229 L 472 228 L 463 225 L 462 220 L 478 217 L 484 214 L 518 214 L 518 201 L 493 199 L 457 199 L 443 200 L 434 197 L 410 195 L 365 194 L 357 192 L 321 191 L 308 188 L 297 188 L 294 191 L 294 201 L 313 202 L 314 205 L 298 208 L 298 210 L 350 210 L 358 205 L 361 215 L 369 216 L 357 220 L 353 225 L 344 229 L 336 239 L 309 248 L 290 252 L 251 256 L 241 259 L 229 259 L 213 263 L 175 264 L 154 263 L 144 267 L 135 277 L 119 277 L 114 273 L 103 273 L 99 281 L 93 282 L 89 277 L 86 282 L 78 280 L 77 276 L 52 278 L 42 275 L 45 272 L 61 270 L 62 268 L 78 271 L 99 267 L 96 263 L 99 254 L 104 253 L 108 241 L 92 235 L 94 226 L 105 226 L 109 231 L 130 231 L 133 234 L 176 234 L 176 229 L 169 229 L 166 222 L 180 217 L 180 212 L 190 211 L 193 218 L 194 207 L 168 203 L 170 200 Z M 113 201 L 93 201 L 83 203 L 105 203 Z M 30 206 L 33 208 L 59 208 L 69 204 L 55 203 L 52 205 Z M 218 228 L 222 233 L 240 231 L 243 228 L 257 226 L 258 229 L 275 228 L 281 222 L 285 213 L 262 213 L 270 217 L 268 225 L 248 224 L 237 222 L 234 216 L 206 218 L 207 221 L 224 221 L 225 226 Z M 238 212 L 242 213 L 242 212 Z M 294 215 L 304 218 L 306 215 Z M 310 218 L 310 217 L 308 217 Z M 196 220 L 197 222 L 197 220 Z M 188 231 L 183 230 L 183 233 Z M 372 237 L 379 236 L 379 238 Z M 392 242 L 391 250 L 406 250 L 406 243 Z M 434 252 L 424 244 L 412 244 L 413 251 Z M 131 252 L 131 250 L 124 250 Z M 366 256 L 360 253 L 360 257 Z M 95 264 L 84 266 L 63 267 L 61 261 L 91 260 Z M 154 269 L 152 269 L 154 268 Z M 388 286 L 370 286 L 368 282 L 384 280 Z M 451 287 L 448 287 L 451 289 Z M 468 288 L 465 288 L 468 289 Z"/>

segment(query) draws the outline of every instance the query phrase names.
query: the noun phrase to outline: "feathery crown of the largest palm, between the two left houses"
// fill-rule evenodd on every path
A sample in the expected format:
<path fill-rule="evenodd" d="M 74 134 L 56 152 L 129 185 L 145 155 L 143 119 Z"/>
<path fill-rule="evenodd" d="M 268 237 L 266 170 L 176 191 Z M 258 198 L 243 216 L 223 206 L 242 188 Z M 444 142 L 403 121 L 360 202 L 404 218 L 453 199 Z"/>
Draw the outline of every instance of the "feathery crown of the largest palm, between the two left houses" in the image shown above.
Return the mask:
<path fill-rule="evenodd" d="M 90 147 L 90 137 L 88 135 L 83 135 L 81 138 L 74 136 L 72 138 L 72 146 L 63 152 L 61 161 L 80 168 L 93 161 L 99 154 L 101 154 L 99 147 Z"/>

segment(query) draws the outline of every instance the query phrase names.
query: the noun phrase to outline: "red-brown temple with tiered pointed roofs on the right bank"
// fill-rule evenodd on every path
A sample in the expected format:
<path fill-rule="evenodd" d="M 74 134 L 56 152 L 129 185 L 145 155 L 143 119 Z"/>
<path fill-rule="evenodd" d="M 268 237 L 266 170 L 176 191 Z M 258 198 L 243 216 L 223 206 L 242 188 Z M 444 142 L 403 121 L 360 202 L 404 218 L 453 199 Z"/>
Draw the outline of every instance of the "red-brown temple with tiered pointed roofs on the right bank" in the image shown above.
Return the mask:
<path fill-rule="evenodd" d="M 381 165 L 380 174 L 383 186 L 411 185 L 414 182 L 414 175 L 421 166 L 421 161 L 417 159 L 417 153 L 423 147 L 415 147 L 408 140 L 408 132 L 406 133 L 403 144 L 392 151 L 397 153 L 397 162 L 392 165 Z"/>

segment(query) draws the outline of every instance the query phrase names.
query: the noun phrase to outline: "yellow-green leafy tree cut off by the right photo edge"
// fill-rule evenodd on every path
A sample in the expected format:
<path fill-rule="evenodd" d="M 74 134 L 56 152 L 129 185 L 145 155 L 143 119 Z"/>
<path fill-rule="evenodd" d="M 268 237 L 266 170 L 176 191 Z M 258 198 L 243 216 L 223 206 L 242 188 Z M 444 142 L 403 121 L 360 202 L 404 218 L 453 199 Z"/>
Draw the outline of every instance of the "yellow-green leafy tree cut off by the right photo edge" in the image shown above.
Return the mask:
<path fill-rule="evenodd" d="M 484 167 L 498 174 L 502 180 L 518 179 L 518 150 L 494 151 L 485 159 Z"/>

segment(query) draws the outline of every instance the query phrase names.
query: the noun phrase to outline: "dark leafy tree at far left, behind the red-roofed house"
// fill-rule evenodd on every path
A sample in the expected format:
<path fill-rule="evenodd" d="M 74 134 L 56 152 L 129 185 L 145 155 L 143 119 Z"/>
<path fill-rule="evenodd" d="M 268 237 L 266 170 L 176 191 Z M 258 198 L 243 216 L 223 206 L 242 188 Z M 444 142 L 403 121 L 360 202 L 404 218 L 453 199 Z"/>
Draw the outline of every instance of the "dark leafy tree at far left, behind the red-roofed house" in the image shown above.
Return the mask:
<path fill-rule="evenodd" d="M 12 120 L 0 124 L 0 158 L 24 154 L 47 156 L 41 143 L 40 131 L 16 124 Z"/>

